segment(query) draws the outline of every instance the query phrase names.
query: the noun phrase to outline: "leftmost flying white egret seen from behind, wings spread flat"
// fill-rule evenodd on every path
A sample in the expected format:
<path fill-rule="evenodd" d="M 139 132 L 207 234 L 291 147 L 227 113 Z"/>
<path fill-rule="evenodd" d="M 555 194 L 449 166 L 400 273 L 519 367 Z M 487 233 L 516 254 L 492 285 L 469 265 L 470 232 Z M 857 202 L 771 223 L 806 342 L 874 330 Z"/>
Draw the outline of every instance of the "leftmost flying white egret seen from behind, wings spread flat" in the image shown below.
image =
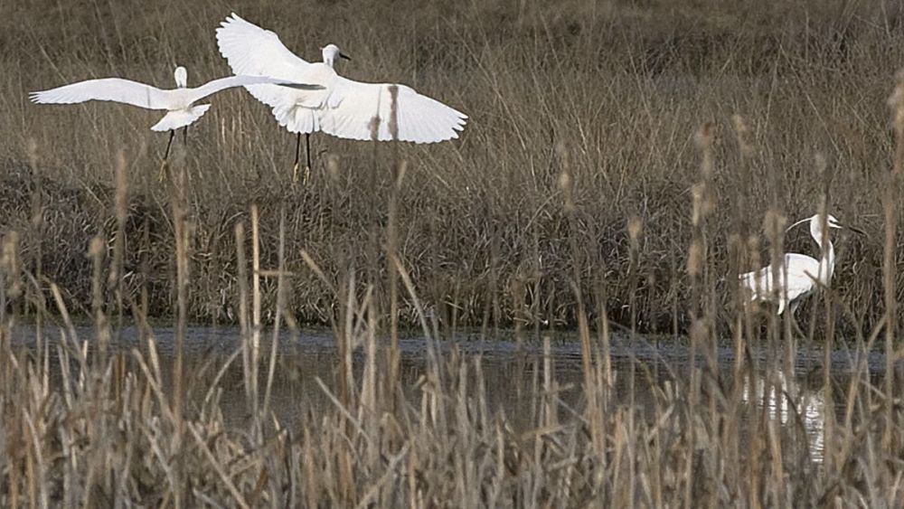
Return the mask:
<path fill-rule="evenodd" d="M 38 104 L 75 104 L 89 100 L 108 100 L 121 102 L 146 109 L 163 109 L 166 115 L 153 127 L 152 131 L 169 131 L 169 142 L 166 143 L 164 161 L 169 156 L 170 146 L 176 129 L 184 127 L 184 136 L 188 135 L 188 126 L 211 107 L 209 104 L 193 106 L 193 103 L 221 90 L 232 87 L 242 87 L 256 83 L 276 83 L 272 85 L 290 86 L 291 90 L 317 89 L 319 87 L 296 84 L 286 80 L 276 80 L 264 76 L 229 76 L 212 80 L 200 87 L 188 88 L 188 71 L 182 66 L 176 67 L 174 72 L 175 89 L 163 90 L 145 83 L 121 78 L 103 78 L 100 80 L 86 80 L 70 85 L 63 85 L 56 89 L 32 92 L 29 97 Z M 290 89 L 287 89 L 290 90 Z"/>

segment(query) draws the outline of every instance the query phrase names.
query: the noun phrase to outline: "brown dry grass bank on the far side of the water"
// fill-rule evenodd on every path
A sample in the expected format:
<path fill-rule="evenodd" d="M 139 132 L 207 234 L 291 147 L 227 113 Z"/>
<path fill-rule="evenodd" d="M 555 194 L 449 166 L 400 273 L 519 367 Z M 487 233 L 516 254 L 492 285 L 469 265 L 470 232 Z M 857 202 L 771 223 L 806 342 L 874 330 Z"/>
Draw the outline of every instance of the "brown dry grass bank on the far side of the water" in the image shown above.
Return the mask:
<path fill-rule="evenodd" d="M 680 270 L 692 239 L 685 204 L 697 173 L 693 133 L 704 122 L 713 123 L 718 159 L 715 274 L 729 272 L 726 232 L 739 223 L 745 236 L 762 235 L 765 260 L 760 225 L 769 208 L 790 219 L 813 213 L 824 181 L 814 164 L 820 155 L 841 190 L 828 206 L 871 233 L 839 242 L 839 296 L 868 322 L 879 318 L 883 213 L 875 190 L 890 165 L 883 104 L 904 64 L 904 36 L 892 5 L 847 2 L 755 9 L 733 2 L 12 7 L 0 35 L 2 224 L 23 233 L 24 249 L 40 253 L 43 271 L 74 300 L 90 300 L 91 269 L 81 255 L 89 238 L 109 239 L 119 228 L 109 203 L 121 152 L 134 185 L 121 225 L 128 240 L 122 291 L 145 287 L 151 316 L 175 314 L 174 259 L 162 249 L 174 223 L 165 185 L 152 178 L 165 141 L 147 129 L 152 113 L 108 104 L 37 107 L 26 92 L 108 75 L 163 86 L 175 63 L 188 67 L 193 82 L 227 74 L 213 29 L 230 10 L 276 31 L 309 59 L 337 42 L 355 58 L 344 74 L 409 83 L 471 121 L 460 141 L 438 146 L 316 136 L 314 181 L 302 188 L 290 180 L 295 140 L 267 108 L 241 90 L 212 98 L 189 146 L 177 145 L 175 154 L 189 183 L 194 277 L 186 306 L 194 319 L 235 319 L 232 224 L 259 203 L 260 256 L 270 265 L 278 256 L 278 210 L 287 211 L 286 262 L 297 273 L 287 308 L 299 320 L 328 323 L 326 287 L 304 270 L 299 253 L 332 275 L 383 256 L 360 249 L 376 245 L 374 225 L 385 226 L 384 197 L 394 185 L 391 165 L 383 158 L 374 164 L 372 153 L 398 149 L 409 163 L 393 225 L 398 253 L 442 325 L 577 325 L 571 220 L 555 206 L 567 164 L 583 251 L 577 269 L 593 275 L 582 281 L 607 282 L 598 306 L 630 325 L 635 298 L 639 330 L 687 332 L 690 321 L 676 305 L 689 291 Z M 733 115 L 746 122 L 747 155 L 732 141 Z M 743 216 L 733 209 L 739 194 Z M 45 206 L 40 230 L 28 227 L 33 195 Z M 631 217 L 644 230 L 633 262 Z M 805 235 L 786 247 L 813 249 Z M 378 265 L 391 270 L 385 260 Z M 625 277 L 632 270 L 636 281 Z M 584 297 L 594 297 L 593 287 L 582 283 Z M 276 285 L 262 287 L 261 298 L 272 305 Z M 416 323 L 406 299 L 400 310 L 403 323 Z M 88 306 L 78 313 L 89 315 Z"/>

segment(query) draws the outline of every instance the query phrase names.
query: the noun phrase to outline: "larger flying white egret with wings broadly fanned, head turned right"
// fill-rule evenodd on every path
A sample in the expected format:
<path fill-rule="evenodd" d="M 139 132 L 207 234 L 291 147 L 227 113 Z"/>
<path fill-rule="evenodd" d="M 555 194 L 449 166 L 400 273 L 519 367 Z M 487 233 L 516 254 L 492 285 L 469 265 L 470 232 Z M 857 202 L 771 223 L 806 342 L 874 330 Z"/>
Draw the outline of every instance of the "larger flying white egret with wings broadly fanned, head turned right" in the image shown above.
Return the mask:
<path fill-rule="evenodd" d="M 334 61 L 351 59 L 335 44 L 322 48 L 322 62 L 304 61 L 290 52 L 276 33 L 233 13 L 217 29 L 217 45 L 236 74 L 323 85 L 324 90 L 245 87 L 255 99 L 272 108 L 280 126 L 297 133 L 293 167 L 296 177 L 302 134 L 307 148 L 307 173 L 311 166 L 310 135 L 316 131 L 356 140 L 436 143 L 457 138 L 465 128 L 465 114 L 410 87 L 362 83 L 339 76 L 333 69 Z"/>

